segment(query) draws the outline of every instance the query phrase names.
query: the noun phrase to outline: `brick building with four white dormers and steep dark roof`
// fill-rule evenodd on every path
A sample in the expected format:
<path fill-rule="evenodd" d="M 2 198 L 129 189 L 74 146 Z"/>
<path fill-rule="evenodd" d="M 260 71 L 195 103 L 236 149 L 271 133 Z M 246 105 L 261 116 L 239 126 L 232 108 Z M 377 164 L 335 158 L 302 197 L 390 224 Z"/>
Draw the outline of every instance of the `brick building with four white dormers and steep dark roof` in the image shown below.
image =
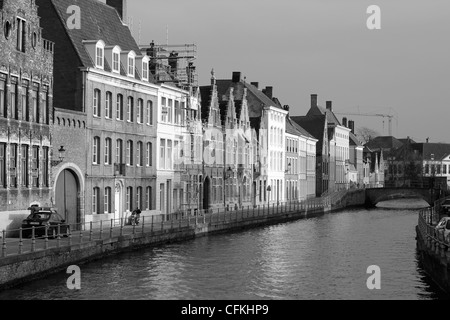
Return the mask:
<path fill-rule="evenodd" d="M 61 116 L 55 130 L 73 130 L 84 139 L 61 136 L 55 144 L 67 154 L 55 167 L 55 187 L 66 190 L 55 191 L 55 202 L 71 203 L 64 211 L 77 223 L 126 218 L 135 208 L 152 214 L 159 86 L 149 72 L 149 57 L 124 24 L 125 2 L 77 1 L 79 29 L 67 24 L 73 1 L 37 3 L 45 35 L 57 43 L 54 103 Z M 69 199 L 71 194 L 77 199 Z"/>

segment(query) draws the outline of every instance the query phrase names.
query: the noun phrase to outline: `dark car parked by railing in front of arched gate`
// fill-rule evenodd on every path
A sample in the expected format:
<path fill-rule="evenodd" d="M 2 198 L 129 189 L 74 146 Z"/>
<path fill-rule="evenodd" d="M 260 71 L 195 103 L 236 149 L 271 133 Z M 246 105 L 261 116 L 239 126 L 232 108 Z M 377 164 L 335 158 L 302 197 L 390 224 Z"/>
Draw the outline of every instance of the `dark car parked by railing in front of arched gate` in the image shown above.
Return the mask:
<path fill-rule="evenodd" d="M 32 227 L 35 227 L 35 237 L 45 236 L 45 227 L 48 227 L 47 235 L 56 238 L 58 226 L 61 236 L 68 235 L 70 226 L 64 218 L 53 208 L 31 207 L 31 214 L 22 221 L 22 237 L 32 236 Z"/>

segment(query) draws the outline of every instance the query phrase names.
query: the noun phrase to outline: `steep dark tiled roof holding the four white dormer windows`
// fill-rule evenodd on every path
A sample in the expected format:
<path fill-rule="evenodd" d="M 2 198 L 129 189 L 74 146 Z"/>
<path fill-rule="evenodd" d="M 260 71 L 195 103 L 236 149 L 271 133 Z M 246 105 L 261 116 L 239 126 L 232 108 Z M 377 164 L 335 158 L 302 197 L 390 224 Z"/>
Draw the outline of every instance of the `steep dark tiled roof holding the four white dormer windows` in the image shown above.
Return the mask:
<path fill-rule="evenodd" d="M 134 50 L 140 55 L 140 49 L 128 26 L 122 23 L 115 8 L 97 0 L 49 0 L 56 9 L 66 33 L 85 67 L 93 67 L 94 63 L 86 51 L 83 40 L 103 40 L 106 45 L 118 45 L 123 51 Z M 69 29 L 65 17 L 67 8 L 77 5 L 81 9 L 81 28 Z"/>

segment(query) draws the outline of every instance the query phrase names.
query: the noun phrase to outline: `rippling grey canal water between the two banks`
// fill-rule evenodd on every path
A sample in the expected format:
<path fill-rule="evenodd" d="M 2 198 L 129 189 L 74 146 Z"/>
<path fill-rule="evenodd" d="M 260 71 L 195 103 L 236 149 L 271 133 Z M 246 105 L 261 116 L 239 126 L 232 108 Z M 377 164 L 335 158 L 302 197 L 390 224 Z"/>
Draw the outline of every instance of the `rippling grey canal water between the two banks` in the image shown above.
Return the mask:
<path fill-rule="evenodd" d="M 418 261 L 426 204 L 382 205 L 123 253 L 81 265 L 81 290 L 62 272 L 0 299 L 448 299 Z M 371 265 L 380 290 L 367 288 Z"/>

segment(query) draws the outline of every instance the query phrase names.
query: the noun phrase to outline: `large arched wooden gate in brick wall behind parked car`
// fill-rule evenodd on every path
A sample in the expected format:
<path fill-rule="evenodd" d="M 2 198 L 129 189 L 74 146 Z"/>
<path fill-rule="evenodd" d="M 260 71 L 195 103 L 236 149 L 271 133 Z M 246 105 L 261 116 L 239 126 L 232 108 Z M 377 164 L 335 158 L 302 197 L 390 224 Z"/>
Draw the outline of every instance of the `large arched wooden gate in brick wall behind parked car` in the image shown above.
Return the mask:
<path fill-rule="evenodd" d="M 58 213 L 69 224 L 81 222 L 78 208 L 79 192 L 79 183 L 75 174 L 68 169 L 61 171 L 56 180 L 55 204 Z"/>

